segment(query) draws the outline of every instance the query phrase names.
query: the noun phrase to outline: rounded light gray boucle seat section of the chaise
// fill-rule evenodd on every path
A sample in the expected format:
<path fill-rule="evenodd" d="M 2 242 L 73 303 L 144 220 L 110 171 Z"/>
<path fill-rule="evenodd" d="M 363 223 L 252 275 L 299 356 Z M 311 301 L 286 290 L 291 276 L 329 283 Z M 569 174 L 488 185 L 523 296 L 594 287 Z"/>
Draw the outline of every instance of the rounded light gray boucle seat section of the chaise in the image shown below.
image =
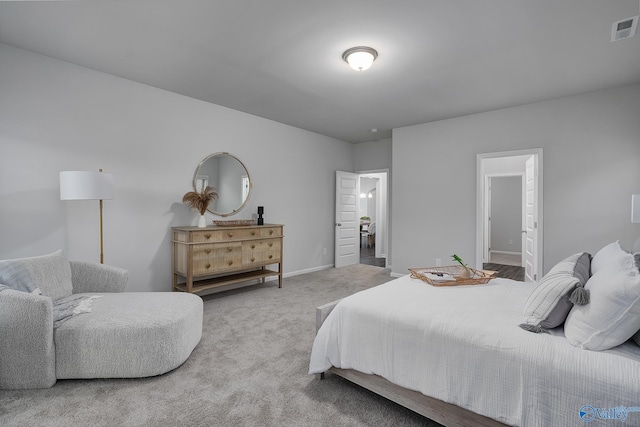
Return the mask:
<path fill-rule="evenodd" d="M 202 336 L 202 299 L 178 292 L 100 295 L 54 329 L 56 377 L 135 378 L 184 363 Z"/>

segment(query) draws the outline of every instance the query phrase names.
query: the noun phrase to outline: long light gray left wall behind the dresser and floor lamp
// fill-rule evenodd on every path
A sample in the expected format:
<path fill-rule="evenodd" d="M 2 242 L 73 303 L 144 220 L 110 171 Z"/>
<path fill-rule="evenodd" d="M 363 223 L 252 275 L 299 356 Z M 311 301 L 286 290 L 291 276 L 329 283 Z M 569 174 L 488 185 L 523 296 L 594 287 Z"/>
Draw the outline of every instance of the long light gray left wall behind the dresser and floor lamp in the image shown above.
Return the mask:
<path fill-rule="evenodd" d="M 0 259 L 97 261 L 98 202 L 61 202 L 58 172 L 104 168 L 105 262 L 130 271 L 129 290 L 168 291 L 170 227 L 195 225 L 182 196 L 218 151 L 254 183 L 231 218 L 260 205 L 285 225 L 285 273 L 333 264 L 335 170 L 353 170 L 352 144 L 0 44 Z"/>

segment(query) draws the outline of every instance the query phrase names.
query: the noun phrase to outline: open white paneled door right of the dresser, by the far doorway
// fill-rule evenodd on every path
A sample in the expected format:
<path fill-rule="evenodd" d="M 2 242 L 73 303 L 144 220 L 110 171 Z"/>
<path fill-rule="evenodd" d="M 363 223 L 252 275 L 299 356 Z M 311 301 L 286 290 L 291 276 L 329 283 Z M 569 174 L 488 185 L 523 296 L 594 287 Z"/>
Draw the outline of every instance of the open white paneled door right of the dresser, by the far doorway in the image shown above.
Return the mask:
<path fill-rule="evenodd" d="M 360 263 L 360 176 L 336 171 L 335 266 Z"/>

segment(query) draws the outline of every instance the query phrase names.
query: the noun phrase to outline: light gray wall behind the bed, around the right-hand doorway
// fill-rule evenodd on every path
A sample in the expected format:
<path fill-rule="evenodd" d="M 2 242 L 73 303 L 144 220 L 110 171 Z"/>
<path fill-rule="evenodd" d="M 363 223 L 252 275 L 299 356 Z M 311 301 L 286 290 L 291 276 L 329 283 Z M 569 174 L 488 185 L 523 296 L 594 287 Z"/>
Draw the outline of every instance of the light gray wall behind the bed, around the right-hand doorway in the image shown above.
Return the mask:
<path fill-rule="evenodd" d="M 620 239 L 640 192 L 640 85 L 395 129 L 393 272 L 475 260 L 476 155 L 544 149 L 544 265 Z"/>

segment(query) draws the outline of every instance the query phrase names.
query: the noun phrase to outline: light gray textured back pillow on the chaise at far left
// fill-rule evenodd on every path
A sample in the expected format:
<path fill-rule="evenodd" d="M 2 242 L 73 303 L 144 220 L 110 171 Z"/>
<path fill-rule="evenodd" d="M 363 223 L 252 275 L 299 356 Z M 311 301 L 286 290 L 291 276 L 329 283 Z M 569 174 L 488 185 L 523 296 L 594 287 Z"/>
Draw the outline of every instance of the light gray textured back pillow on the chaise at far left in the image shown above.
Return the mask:
<path fill-rule="evenodd" d="M 71 266 L 62 251 L 31 258 L 2 260 L 0 275 L 0 284 L 25 292 L 33 292 L 39 288 L 42 295 L 51 297 L 54 301 L 73 293 Z"/>

